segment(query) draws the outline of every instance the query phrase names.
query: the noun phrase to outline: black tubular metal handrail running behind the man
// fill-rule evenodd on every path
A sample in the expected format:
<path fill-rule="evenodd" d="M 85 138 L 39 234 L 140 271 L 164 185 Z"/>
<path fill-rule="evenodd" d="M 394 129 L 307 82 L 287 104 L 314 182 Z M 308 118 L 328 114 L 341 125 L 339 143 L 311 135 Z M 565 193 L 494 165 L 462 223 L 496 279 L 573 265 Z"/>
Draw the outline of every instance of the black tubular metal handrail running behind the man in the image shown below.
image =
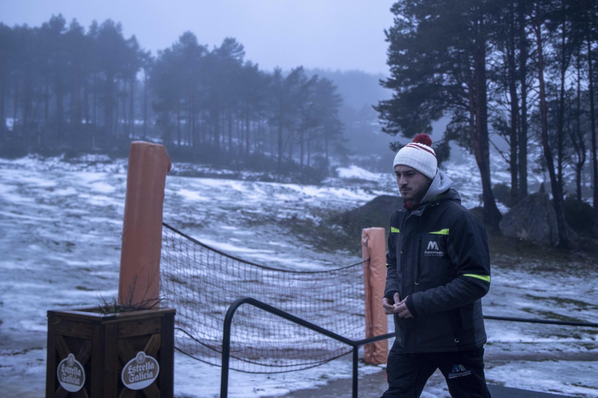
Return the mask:
<path fill-rule="evenodd" d="M 321 333 L 322 335 L 328 336 L 329 338 L 335 339 L 337 341 L 343 342 L 344 344 L 353 347 L 353 398 L 357 398 L 357 391 L 358 391 L 358 377 L 357 377 L 357 362 L 358 362 L 358 352 L 359 347 L 365 344 L 370 344 L 372 342 L 385 340 L 388 338 L 392 338 L 395 336 L 395 333 L 386 333 L 385 335 L 374 336 L 366 339 L 361 340 L 351 340 L 341 335 L 337 335 L 337 333 L 331 332 L 328 329 L 324 329 L 324 327 L 320 327 L 316 324 L 311 322 L 307 322 L 304 319 L 291 315 L 285 311 L 279 310 L 279 308 L 272 307 L 271 305 L 266 304 L 265 302 L 261 302 L 257 299 L 252 297 L 241 297 L 236 299 L 233 304 L 228 307 L 228 311 L 226 316 L 224 317 L 224 330 L 222 335 L 222 373 L 220 377 L 220 398 L 227 398 L 228 397 L 228 362 L 230 360 L 230 329 L 231 324 L 233 323 L 233 315 L 243 304 L 250 304 L 254 307 L 261 308 L 264 311 L 267 311 L 271 314 L 279 316 L 283 319 L 289 320 L 291 322 L 297 323 L 300 326 L 307 327 L 307 329 L 314 330 L 315 332 Z M 513 318 L 513 317 L 495 317 L 495 316 L 484 316 L 484 319 L 491 319 L 491 320 L 505 320 L 511 322 L 527 322 L 527 323 L 547 323 L 547 324 L 560 324 L 566 326 L 585 326 L 585 327 L 598 327 L 598 323 L 591 323 L 591 322 L 568 322 L 568 321 L 556 321 L 556 320 L 544 320 L 544 319 L 526 319 L 526 318 Z"/>

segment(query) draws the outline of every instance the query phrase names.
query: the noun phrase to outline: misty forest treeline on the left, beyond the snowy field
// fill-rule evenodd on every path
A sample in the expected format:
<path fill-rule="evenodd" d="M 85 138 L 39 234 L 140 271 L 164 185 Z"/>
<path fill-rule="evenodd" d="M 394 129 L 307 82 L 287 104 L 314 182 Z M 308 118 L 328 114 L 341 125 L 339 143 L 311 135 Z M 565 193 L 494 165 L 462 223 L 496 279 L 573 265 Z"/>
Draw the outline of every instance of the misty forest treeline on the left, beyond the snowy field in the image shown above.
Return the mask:
<path fill-rule="evenodd" d="M 152 56 L 112 20 L 85 29 L 59 15 L 0 23 L 0 46 L 5 153 L 156 137 L 179 160 L 283 173 L 325 172 L 346 151 L 335 85 L 302 67 L 262 71 L 233 38 L 210 49 L 185 32 Z"/>

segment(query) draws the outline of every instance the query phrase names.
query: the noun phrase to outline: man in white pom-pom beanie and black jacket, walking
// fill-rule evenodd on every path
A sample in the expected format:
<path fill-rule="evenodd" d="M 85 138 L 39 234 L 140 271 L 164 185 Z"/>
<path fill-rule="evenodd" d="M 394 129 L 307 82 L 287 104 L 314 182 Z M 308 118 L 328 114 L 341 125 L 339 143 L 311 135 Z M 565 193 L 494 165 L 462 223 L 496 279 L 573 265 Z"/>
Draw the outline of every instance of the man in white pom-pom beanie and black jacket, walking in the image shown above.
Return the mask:
<path fill-rule="evenodd" d="M 419 397 L 440 369 L 453 397 L 490 397 L 481 297 L 490 287 L 487 232 L 437 167 L 427 134 L 396 154 L 403 198 L 390 219 L 382 305 L 395 321 L 388 397 Z"/>

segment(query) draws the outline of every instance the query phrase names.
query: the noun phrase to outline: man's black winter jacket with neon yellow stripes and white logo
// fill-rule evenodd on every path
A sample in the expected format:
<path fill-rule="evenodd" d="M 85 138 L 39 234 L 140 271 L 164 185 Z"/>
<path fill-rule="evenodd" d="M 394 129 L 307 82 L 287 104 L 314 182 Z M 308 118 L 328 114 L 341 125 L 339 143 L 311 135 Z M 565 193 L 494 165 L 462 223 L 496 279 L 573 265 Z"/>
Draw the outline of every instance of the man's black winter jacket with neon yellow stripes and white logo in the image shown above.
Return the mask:
<path fill-rule="evenodd" d="M 403 204 L 390 218 L 385 297 L 393 293 L 413 318 L 394 314 L 404 354 L 463 351 L 486 342 L 481 297 L 490 287 L 484 226 L 449 189 L 413 209 Z"/>

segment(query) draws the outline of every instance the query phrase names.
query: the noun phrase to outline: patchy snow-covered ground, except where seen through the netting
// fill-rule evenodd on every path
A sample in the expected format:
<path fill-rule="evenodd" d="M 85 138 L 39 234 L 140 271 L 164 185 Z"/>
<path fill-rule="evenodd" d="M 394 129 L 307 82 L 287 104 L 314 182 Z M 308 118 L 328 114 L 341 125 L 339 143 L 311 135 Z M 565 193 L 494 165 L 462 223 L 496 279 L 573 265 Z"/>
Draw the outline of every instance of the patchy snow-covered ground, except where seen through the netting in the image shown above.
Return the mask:
<path fill-rule="evenodd" d="M 355 166 L 338 169 L 339 177 L 322 186 L 258 182 L 249 173 L 236 180 L 184 177 L 177 170 L 196 169 L 174 165 L 166 182 L 164 221 L 225 252 L 279 268 L 326 269 L 360 261 L 346 252 L 321 253 L 301 243 L 285 228 L 286 219 L 317 222 L 326 212 L 396 194 L 392 174 Z M 465 206 L 479 206 L 475 162 L 448 164 L 447 173 Z M 509 178 L 499 170 L 492 177 L 493 182 Z M 538 182 L 534 178 L 530 176 Z M 0 159 L 2 394 L 42 396 L 46 310 L 96 305 L 100 295 L 117 293 L 125 186 L 124 159 Z M 498 256 L 484 313 L 598 322 L 597 281 L 598 270 L 581 261 L 556 264 Z M 489 381 L 598 397 L 598 329 L 498 321 L 487 321 L 486 327 Z M 233 372 L 230 395 L 280 395 L 349 378 L 349 360 L 273 375 Z M 361 374 L 382 370 L 360 367 Z M 216 397 L 219 375 L 220 368 L 176 354 L 176 396 Z M 425 391 L 431 397 L 445 390 L 430 385 Z"/>

